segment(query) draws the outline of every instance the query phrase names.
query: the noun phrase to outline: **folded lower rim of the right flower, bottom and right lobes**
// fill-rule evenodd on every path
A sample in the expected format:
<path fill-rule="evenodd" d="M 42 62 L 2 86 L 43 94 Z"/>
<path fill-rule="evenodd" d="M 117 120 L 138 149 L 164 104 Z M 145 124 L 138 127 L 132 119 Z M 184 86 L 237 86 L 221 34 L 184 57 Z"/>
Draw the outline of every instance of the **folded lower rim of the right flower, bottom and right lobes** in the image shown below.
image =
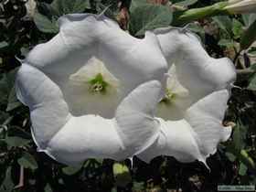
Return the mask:
<path fill-rule="evenodd" d="M 206 163 L 208 155 L 216 152 L 219 142 L 230 136 L 231 128 L 222 125 L 228 99 L 227 90 L 216 91 L 193 104 L 183 120 L 158 118 L 161 123 L 158 139 L 138 157 L 149 162 L 157 155 L 170 155 L 181 162 L 199 160 Z"/>

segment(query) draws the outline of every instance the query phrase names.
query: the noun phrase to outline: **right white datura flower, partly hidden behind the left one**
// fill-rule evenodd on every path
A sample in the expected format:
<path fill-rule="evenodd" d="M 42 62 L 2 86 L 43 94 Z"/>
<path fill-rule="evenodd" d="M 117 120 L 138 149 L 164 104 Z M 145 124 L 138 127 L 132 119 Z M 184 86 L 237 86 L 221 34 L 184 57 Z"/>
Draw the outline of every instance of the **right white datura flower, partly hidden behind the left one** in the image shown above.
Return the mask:
<path fill-rule="evenodd" d="M 222 121 L 236 70 L 227 58 L 209 57 L 198 37 L 185 29 L 159 28 L 155 35 L 169 66 L 155 117 L 161 131 L 155 144 L 138 157 L 149 162 L 158 155 L 171 155 L 181 162 L 199 160 L 206 165 L 206 158 L 231 133 Z"/>

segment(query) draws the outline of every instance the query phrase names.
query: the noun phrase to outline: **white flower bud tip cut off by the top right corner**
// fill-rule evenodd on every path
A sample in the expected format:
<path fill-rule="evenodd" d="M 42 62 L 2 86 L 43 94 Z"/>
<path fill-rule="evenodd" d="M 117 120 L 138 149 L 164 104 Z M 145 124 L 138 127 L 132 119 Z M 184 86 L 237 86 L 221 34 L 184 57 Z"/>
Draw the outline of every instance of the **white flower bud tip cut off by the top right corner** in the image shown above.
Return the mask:
<path fill-rule="evenodd" d="M 256 13 L 256 0 L 229 0 L 224 9 L 232 14 Z"/>

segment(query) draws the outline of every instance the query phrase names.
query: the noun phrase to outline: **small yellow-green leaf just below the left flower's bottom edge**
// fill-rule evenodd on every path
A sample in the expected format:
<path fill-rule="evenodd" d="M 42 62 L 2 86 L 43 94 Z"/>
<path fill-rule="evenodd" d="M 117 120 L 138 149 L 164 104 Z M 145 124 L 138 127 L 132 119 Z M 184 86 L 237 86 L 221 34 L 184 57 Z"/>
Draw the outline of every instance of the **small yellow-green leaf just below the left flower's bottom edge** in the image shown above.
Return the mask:
<path fill-rule="evenodd" d="M 129 168 L 124 164 L 114 163 L 112 165 L 112 172 L 118 187 L 125 187 L 132 181 Z"/>

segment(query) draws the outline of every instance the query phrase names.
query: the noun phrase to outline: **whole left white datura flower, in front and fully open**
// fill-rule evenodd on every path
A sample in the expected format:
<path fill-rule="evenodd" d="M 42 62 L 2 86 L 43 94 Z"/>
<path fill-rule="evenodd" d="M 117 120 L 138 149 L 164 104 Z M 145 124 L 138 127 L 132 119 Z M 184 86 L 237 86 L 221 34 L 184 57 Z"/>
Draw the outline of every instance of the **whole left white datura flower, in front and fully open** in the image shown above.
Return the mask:
<path fill-rule="evenodd" d="M 154 111 L 167 64 L 157 37 L 132 37 L 102 15 L 62 16 L 59 26 L 16 76 L 38 151 L 67 165 L 141 153 L 160 129 Z"/>

